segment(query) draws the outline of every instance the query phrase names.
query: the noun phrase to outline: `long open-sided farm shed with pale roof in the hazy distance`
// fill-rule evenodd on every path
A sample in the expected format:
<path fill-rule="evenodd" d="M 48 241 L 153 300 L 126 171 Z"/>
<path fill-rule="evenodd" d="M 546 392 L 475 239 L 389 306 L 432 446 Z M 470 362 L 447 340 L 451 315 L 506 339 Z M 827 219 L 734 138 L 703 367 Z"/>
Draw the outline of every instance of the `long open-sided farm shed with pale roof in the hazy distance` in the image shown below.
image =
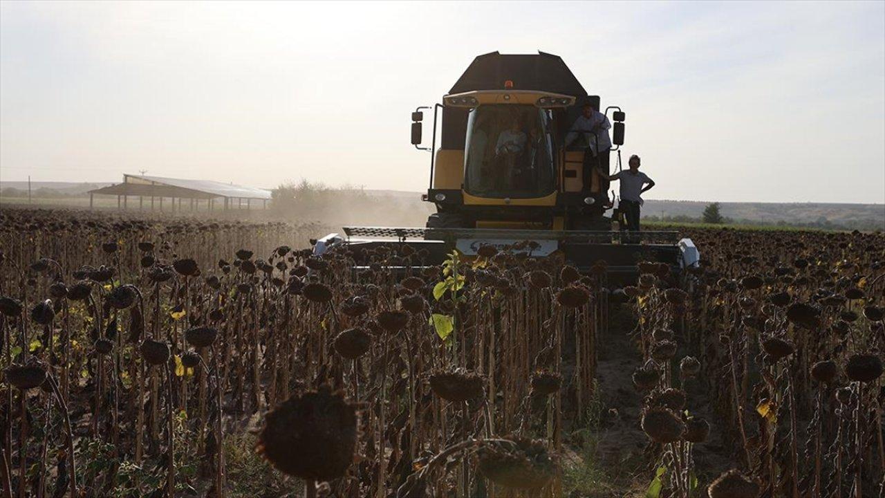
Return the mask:
<path fill-rule="evenodd" d="M 216 202 L 223 203 L 223 208 L 226 210 L 242 209 L 243 205 L 246 209 L 250 209 L 252 200 L 257 200 L 266 208 L 267 201 L 271 198 L 271 191 L 212 180 L 125 174 L 123 183 L 89 191 L 89 207 L 92 207 L 96 195 L 117 196 L 117 207 L 120 209 L 127 209 L 130 197 L 137 197 L 139 209 L 143 209 L 145 200 L 150 198 L 150 209 L 158 206 L 162 211 L 164 199 L 169 198 L 173 211 L 181 211 L 181 199 L 188 199 L 191 211 L 199 210 L 201 201 L 205 201 L 206 209 L 212 211 Z"/>

